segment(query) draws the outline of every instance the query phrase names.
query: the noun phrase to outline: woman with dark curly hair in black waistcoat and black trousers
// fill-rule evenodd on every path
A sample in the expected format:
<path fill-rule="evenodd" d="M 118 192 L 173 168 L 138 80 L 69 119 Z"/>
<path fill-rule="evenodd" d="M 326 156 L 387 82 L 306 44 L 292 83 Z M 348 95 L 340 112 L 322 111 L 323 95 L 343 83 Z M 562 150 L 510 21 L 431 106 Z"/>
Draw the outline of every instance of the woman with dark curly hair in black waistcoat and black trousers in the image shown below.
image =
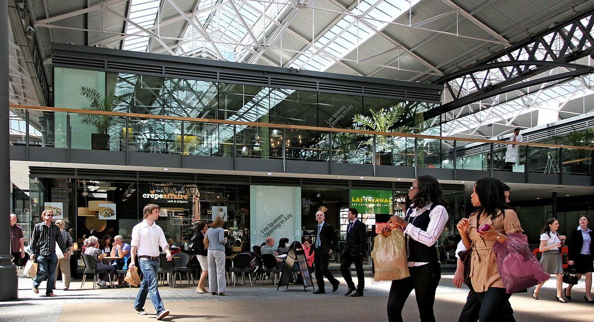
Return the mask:
<path fill-rule="evenodd" d="M 448 214 L 444 207 L 443 191 L 433 176 L 416 178 L 410 187 L 409 198 L 412 204 L 405 219 L 398 216 L 390 218 L 390 222 L 404 229 L 410 277 L 392 281 L 388 296 L 388 320 L 402 321 L 402 308 L 414 289 L 421 321 L 435 321 L 435 289 L 441 279 L 435 242 L 444 230 Z M 387 237 L 389 233 L 388 229 L 384 229 L 382 235 Z"/>

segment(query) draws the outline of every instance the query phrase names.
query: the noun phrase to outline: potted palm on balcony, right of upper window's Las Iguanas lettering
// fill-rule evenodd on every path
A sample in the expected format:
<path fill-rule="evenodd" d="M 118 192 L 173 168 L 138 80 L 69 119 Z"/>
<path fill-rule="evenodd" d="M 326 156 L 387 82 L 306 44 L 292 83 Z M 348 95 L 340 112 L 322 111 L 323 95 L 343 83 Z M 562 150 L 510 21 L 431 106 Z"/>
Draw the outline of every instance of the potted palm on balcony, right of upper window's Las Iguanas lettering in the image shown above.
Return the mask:
<path fill-rule="evenodd" d="M 394 127 L 394 124 L 403 121 L 405 117 L 404 108 L 399 103 L 388 109 L 370 110 L 371 116 L 356 114 L 353 116 L 355 127 L 359 130 L 368 130 L 376 132 L 397 132 L 408 133 L 410 128 L 407 126 Z M 371 144 L 372 138 L 369 138 L 368 144 Z M 375 139 L 375 163 L 379 165 L 392 165 L 392 151 L 396 144 L 394 137 L 378 135 Z"/>

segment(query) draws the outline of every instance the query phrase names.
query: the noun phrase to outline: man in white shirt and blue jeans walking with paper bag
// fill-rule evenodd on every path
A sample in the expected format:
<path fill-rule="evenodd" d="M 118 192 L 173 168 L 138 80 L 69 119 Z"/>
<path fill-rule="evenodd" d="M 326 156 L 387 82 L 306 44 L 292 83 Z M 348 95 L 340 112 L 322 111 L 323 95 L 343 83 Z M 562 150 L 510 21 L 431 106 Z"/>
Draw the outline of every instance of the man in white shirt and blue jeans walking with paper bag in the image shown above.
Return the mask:
<path fill-rule="evenodd" d="M 173 260 L 169 245 L 165 239 L 165 233 L 154 222 L 159 219 L 159 206 L 156 204 L 147 204 L 143 209 L 144 220 L 132 228 L 132 246 L 130 264 L 128 269 L 134 269 L 136 263 L 136 255 L 138 254 L 138 261 L 140 269 L 143 272 L 144 279 L 138 290 L 136 301 L 134 301 L 134 309 L 140 315 L 146 315 L 144 311 L 144 302 L 147 299 L 147 294 L 153 302 L 154 308 L 157 311 L 157 320 L 162 320 L 169 314 L 168 310 L 163 307 L 163 301 L 157 289 L 157 272 L 159 272 L 159 246 L 167 254 L 167 260 Z"/>

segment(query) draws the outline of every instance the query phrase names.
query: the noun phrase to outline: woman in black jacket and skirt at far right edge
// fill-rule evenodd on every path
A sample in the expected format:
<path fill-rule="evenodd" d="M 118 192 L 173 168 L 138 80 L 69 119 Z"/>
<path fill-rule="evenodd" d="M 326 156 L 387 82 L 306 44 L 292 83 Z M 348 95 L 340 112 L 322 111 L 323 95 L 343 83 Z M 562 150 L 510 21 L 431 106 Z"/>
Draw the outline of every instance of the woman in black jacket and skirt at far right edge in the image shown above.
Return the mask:
<path fill-rule="evenodd" d="M 569 235 L 567 242 L 568 254 L 567 264 L 576 269 L 577 277 L 582 278 L 582 274 L 586 275 L 586 296 L 584 300 L 588 303 L 592 301 L 592 272 L 594 271 L 594 232 L 588 228 L 590 218 L 585 214 L 579 218 L 580 226 L 573 229 Z M 567 286 L 565 291 L 565 298 L 571 301 L 571 288 L 573 285 Z"/>

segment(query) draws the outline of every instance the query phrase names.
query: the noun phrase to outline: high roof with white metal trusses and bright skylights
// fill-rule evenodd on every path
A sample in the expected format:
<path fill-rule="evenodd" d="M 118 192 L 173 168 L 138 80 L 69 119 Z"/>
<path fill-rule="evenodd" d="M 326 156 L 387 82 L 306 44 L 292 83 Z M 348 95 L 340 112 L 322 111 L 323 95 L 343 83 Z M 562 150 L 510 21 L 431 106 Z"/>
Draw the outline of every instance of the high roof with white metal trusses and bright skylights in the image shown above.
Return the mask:
<path fill-rule="evenodd" d="M 583 0 L 10 0 L 9 9 L 10 100 L 28 105 L 48 101 L 52 42 L 438 83 L 555 30 L 541 37 L 548 46 L 490 62 L 556 62 L 551 50 L 565 50 L 580 55 L 563 62 L 593 65 L 594 2 Z M 441 113 L 442 134 L 497 137 L 594 109 L 592 74 L 548 81 L 568 68 L 514 68 L 472 72 L 482 84 L 450 80 L 443 103 L 456 90 L 486 97 Z M 533 83 L 488 96 L 512 76 Z"/>

